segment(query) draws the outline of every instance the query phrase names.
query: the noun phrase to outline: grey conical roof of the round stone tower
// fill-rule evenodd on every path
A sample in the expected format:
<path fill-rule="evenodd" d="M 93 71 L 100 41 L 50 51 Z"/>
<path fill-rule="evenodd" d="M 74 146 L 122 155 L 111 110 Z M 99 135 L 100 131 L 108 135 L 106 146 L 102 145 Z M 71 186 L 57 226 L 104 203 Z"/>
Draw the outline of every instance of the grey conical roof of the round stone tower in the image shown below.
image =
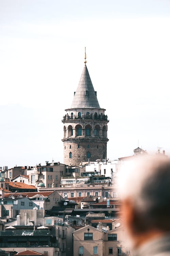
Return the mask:
<path fill-rule="evenodd" d="M 74 94 L 74 98 L 71 104 L 71 108 L 97 108 L 100 109 L 100 105 L 96 96 L 96 92 L 92 85 L 90 75 L 85 65 L 79 81 L 79 85 Z"/>

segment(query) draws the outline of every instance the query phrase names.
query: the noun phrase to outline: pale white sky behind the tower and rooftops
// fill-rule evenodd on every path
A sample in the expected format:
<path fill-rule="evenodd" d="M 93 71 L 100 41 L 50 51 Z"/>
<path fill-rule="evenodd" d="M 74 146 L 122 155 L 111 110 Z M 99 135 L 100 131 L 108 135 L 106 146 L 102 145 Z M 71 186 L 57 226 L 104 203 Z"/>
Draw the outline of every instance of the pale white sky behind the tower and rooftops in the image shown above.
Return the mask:
<path fill-rule="evenodd" d="M 85 46 L 107 157 L 170 155 L 169 0 L 0 0 L 0 166 L 63 162 Z"/>

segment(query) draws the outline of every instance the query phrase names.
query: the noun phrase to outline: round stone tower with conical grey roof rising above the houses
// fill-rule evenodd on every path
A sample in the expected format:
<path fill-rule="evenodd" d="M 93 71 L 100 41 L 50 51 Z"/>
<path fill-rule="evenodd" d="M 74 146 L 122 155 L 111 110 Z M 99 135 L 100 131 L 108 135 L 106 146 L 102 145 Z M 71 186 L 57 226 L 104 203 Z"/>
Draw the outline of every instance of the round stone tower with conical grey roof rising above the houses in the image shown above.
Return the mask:
<path fill-rule="evenodd" d="M 64 163 L 79 166 L 82 162 L 107 157 L 107 115 L 101 109 L 97 92 L 85 66 L 70 109 L 66 109 L 64 124 Z"/>

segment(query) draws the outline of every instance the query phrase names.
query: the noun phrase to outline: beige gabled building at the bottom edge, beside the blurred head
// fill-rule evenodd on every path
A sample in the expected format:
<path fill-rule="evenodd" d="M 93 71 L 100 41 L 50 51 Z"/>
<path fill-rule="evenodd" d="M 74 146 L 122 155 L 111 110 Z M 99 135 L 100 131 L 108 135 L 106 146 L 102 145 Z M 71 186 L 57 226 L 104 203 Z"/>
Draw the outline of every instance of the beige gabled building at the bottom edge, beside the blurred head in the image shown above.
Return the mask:
<path fill-rule="evenodd" d="M 73 246 L 74 256 L 132 255 L 121 219 L 113 223 L 110 231 L 108 227 L 102 227 L 102 223 L 98 224 L 98 228 L 87 225 L 74 231 Z"/>

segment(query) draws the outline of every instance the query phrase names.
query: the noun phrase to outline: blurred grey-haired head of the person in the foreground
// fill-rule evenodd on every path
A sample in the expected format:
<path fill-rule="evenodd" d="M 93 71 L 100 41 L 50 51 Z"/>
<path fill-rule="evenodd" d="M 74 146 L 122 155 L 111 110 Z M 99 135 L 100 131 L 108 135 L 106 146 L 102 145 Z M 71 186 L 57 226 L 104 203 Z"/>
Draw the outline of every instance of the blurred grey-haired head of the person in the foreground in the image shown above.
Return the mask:
<path fill-rule="evenodd" d="M 143 156 L 129 168 L 124 168 L 120 185 L 123 216 L 131 237 L 135 240 L 170 231 L 170 160 Z"/>

